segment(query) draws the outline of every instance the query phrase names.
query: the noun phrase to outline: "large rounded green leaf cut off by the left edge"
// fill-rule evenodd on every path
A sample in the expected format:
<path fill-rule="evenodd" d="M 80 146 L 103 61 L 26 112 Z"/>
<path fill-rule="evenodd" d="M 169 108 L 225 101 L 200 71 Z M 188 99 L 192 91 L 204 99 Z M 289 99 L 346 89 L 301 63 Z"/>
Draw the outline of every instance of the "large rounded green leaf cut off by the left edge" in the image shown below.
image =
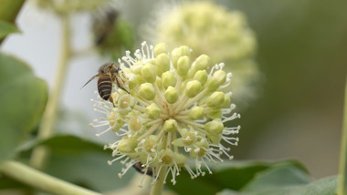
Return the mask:
<path fill-rule="evenodd" d="M 47 84 L 26 63 L 0 53 L 0 161 L 37 126 L 47 100 Z"/>

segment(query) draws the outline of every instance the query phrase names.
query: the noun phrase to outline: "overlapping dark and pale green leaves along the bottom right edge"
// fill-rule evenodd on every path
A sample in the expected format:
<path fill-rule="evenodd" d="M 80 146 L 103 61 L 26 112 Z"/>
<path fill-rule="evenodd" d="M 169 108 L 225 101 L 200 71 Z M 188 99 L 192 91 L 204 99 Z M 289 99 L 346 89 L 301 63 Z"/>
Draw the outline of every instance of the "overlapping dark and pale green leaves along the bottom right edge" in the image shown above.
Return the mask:
<path fill-rule="evenodd" d="M 177 193 L 219 195 L 329 195 L 336 190 L 336 177 L 312 181 L 298 161 L 276 162 L 231 161 L 216 166 L 214 174 L 193 181 L 186 172 L 176 185 L 169 185 Z"/>

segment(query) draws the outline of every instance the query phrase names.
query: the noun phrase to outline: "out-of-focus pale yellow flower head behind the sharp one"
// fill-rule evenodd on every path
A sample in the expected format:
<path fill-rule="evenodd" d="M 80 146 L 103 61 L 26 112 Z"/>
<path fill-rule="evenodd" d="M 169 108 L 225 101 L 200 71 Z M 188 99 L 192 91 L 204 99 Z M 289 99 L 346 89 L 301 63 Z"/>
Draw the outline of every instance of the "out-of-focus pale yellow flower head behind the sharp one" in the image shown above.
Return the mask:
<path fill-rule="evenodd" d="M 230 85 L 236 94 L 234 100 L 245 108 L 255 97 L 254 85 L 259 79 L 254 61 L 256 36 L 247 25 L 246 16 L 212 1 L 187 1 L 163 7 L 143 26 L 147 31 L 144 38 L 154 44 L 164 41 L 169 46 L 189 46 L 193 58 L 201 54 L 211 56 L 211 66 L 224 62 L 225 69 L 235 75 Z"/>

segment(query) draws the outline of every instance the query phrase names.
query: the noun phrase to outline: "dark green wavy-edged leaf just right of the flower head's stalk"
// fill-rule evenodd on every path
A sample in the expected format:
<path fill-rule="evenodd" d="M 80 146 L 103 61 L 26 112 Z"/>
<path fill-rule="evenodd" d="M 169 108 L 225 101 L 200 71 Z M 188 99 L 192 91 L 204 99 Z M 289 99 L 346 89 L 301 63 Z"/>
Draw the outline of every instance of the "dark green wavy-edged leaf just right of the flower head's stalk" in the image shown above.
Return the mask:
<path fill-rule="evenodd" d="M 273 167 L 294 167 L 306 172 L 306 169 L 295 160 L 281 161 L 230 161 L 220 165 L 209 166 L 213 170 L 213 174 L 206 174 L 204 177 L 198 177 L 195 180 L 190 178 L 186 171 L 182 171 L 177 177 L 175 185 L 167 185 L 170 189 L 178 194 L 191 194 L 191 189 L 195 189 L 196 193 L 216 194 L 217 191 L 224 189 L 240 190 L 253 180 L 260 172 Z"/>

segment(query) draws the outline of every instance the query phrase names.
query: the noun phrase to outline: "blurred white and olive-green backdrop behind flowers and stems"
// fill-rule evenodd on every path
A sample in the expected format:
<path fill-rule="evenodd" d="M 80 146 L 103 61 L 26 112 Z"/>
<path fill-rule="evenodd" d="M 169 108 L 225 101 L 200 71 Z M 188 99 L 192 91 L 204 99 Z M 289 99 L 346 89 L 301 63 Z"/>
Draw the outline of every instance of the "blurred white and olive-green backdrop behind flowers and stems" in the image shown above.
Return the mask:
<path fill-rule="evenodd" d="M 119 15 L 133 30 L 135 48 L 142 26 L 165 4 L 122 1 Z M 299 159 L 315 178 L 336 175 L 342 130 L 342 105 L 347 73 L 347 2 L 324 0 L 216 1 L 242 11 L 257 37 L 256 61 L 262 75 L 256 98 L 240 109 L 242 118 L 235 159 Z M 344 4 L 344 5 L 342 5 Z M 72 17 L 76 50 L 93 45 L 91 15 Z M 17 17 L 21 34 L 5 39 L 2 50 L 25 60 L 37 76 L 54 82 L 60 46 L 56 15 L 27 1 Z M 95 84 L 80 89 L 110 57 L 97 53 L 69 61 L 61 94 L 58 130 L 94 137 L 88 124 L 96 118 L 90 98 Z M 112 139 L 112 138 L 111 138 Z"/>

